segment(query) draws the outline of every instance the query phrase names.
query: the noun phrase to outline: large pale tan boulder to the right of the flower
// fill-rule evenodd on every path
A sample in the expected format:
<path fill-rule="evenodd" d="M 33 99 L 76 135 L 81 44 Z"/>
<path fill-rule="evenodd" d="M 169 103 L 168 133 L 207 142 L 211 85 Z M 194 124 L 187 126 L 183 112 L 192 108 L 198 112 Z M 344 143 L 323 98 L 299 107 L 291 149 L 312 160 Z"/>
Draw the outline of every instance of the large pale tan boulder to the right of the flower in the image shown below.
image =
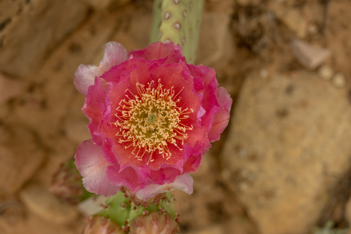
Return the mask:
<path fill-rule="evenodd" d="M 223 176 L 263 234 L 307 233 L 350 166 L 351 106 L 313 73 L 246 79 Z"/>

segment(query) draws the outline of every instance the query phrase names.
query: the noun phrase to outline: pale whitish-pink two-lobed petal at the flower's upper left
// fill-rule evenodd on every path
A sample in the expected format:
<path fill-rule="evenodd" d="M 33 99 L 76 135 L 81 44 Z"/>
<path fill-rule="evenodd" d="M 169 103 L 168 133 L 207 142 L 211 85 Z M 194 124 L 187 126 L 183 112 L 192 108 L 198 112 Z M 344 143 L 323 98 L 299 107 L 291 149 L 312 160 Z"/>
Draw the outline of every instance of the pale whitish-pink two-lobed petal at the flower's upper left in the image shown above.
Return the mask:
<path fill-rule="evenodd" d="M 88 87 L 94 85 L 95 76 L 100 76 L 113 66 L 127 60 L 127 50 L 118 42 L 110 41 L 104 45 L 104 56 L 98 65 L 81 64 L 74 73 L 74 85 L 84 96 Z"/>

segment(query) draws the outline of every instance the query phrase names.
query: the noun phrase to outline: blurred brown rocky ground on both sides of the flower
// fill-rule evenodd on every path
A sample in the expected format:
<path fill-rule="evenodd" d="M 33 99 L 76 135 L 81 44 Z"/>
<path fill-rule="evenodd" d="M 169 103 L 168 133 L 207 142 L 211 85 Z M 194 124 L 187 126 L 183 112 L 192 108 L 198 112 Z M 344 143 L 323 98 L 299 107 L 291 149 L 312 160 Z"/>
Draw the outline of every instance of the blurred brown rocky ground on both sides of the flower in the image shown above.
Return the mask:
<path fill-rule="evenodd" d="M 216 69 L 234 102 L 194 193 L 174 192 L 181 233 L 346 233 L 351 1 L 204 9 L 196 63 Z M 151 14 L 151 0 L 0 0 L 0 233 L 81 233 L 86 216 L 48 190 L 90 138 L 74 71 L 108 41 L 145 48 Z"/>

